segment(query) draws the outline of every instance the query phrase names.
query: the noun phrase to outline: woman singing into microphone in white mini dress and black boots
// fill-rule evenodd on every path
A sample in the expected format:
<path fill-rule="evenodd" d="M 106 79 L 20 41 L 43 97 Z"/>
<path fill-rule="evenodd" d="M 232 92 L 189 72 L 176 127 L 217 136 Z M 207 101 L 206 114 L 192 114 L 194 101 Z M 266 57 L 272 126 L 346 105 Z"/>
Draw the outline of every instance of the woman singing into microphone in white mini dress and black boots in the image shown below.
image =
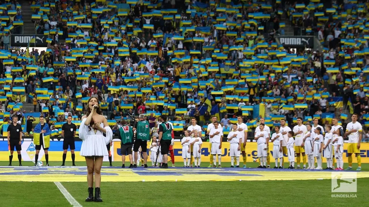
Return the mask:
<path fill-rule="evenodd" d="M 101 115 L 99 101 L 91 97 L 87 101 L 87 114 L 82 116 L 82 122 L 79 126 L 79 138 L 82 141 L 80 155 L 86 158 L 87 164 L 87 185 L 88 193 L 86 201 L 102 202 L 100 183 L 101 183 L 101 165 L 103 157 L 108 155 L 106 145 L 113 138 L 107 120 Z M 106 137 L 103 136 L 106 134 Z M 95 173 L 95 197 L 93 196 L 93 180 Z"/>

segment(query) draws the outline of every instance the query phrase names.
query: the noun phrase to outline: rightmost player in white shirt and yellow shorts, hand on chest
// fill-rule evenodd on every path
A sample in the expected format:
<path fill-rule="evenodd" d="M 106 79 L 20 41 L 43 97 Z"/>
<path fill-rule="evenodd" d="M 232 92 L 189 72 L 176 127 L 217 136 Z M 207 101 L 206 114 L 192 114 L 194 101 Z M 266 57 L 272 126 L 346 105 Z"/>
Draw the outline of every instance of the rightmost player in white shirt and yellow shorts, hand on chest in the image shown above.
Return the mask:
<path fill-rule="evenodd" d="M 358 115 L 356 113 L 351 116 L 351 120 L 352 122 L 348 123 L 346 126 L 345 133 L 345 135 L 348 136 L 348 168 L 346 169 L 352 169 L 352 154 L 355 154 L 355 157 L 358 161 L 358 168 L 356 168 L 356 170 L 361 170 L 360 143 L 363 136 L 363 127 L 361 126 L 361 123 L 357 121 Z"/>

